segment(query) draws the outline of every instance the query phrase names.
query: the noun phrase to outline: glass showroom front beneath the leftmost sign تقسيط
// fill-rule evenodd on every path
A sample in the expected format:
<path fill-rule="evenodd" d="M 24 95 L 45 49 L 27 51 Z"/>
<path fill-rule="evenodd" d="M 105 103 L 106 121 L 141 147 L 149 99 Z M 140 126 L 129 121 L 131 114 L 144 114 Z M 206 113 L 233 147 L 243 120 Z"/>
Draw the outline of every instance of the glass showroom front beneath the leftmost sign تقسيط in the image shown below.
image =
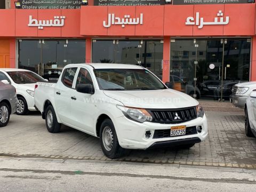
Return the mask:
<path fill-rule="evenodd" d="M 19 39 L 18 67 L 57 81 L 61 70 L 70 63 L 85 63 L 85 40 Z"/>

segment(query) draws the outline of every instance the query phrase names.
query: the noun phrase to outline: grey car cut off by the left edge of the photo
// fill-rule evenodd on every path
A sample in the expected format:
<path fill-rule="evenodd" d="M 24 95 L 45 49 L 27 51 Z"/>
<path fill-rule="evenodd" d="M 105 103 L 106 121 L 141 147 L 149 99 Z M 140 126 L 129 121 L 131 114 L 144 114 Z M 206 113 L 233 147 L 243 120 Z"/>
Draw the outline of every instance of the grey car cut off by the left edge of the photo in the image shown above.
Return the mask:
<path fill-rule="evenodd" d="M 9 123 L 10 115 L 16 112 L 18 99 L 14 86 L 0 81 L 0 127 Z"/>

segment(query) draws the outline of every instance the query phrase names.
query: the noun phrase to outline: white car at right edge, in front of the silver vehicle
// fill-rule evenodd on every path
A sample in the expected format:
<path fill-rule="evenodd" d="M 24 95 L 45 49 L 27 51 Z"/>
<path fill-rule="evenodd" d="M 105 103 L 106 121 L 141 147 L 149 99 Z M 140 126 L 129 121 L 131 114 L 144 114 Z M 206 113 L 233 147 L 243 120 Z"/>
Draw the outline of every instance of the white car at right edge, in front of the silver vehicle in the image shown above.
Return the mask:
<path fill-rule="evenodd" d="M 256 137 L 256 91 L 252 91 L 247 97 L 244 112 L 245 134 L 247 137 Z"/>

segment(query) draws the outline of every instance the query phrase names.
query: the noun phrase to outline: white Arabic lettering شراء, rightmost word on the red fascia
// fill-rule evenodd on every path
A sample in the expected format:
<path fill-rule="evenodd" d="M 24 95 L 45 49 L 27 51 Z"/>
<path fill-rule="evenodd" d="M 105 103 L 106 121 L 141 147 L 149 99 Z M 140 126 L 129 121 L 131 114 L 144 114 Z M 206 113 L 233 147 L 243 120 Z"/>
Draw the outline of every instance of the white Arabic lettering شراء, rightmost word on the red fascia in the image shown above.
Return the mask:
<path fill-rule="evenodd" d="M 188 17 L 186 21 L 186 25 L 196 25 L 198 29 L 202 29 L 205 25 L 227 25 L 229 23 L 229 17 L 226 17 L 226 21 L 224 21 L 222 11 L 217 13 L 217 17 L 214 18 L 214 21 L 205 22 L 204 18 L 199 18 L 199 12 L 196 12 L 196 20 L 194 17 Z"/>

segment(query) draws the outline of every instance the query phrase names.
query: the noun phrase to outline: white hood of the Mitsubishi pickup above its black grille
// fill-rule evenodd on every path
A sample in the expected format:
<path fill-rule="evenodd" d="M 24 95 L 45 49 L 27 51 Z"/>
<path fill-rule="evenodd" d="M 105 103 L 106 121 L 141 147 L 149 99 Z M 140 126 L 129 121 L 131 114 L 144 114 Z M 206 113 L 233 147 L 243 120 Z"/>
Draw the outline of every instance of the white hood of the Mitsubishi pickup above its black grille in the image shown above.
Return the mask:
<path fill-rule="evenodd" d="M 198 102 L 189 95 L 172 89 L 103 91 L 108 97 L 122 102 L 127 107 L 146 109 L 175 109 L 192 107 Z"/>

